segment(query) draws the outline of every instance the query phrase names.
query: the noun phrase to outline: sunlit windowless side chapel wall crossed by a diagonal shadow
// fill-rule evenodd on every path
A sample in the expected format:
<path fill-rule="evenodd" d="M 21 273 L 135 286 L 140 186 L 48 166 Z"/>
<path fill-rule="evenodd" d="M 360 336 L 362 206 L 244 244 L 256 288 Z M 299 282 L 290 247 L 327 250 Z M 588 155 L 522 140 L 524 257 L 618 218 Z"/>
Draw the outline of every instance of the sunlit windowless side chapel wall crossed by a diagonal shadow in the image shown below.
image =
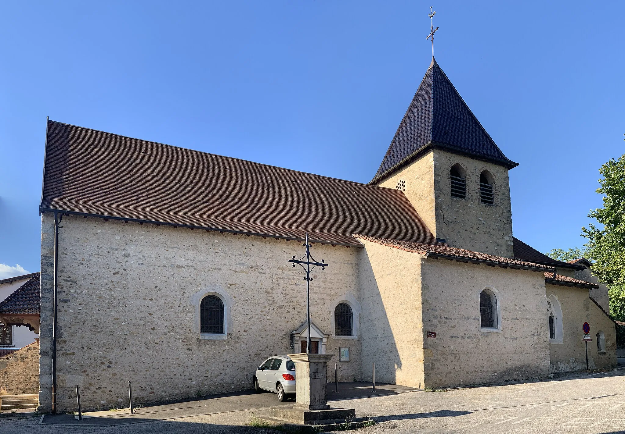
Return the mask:
<path fill-rule="evenodd" d="M 421 255 L 362 241 L 362 378 L 423 387 Z"/>

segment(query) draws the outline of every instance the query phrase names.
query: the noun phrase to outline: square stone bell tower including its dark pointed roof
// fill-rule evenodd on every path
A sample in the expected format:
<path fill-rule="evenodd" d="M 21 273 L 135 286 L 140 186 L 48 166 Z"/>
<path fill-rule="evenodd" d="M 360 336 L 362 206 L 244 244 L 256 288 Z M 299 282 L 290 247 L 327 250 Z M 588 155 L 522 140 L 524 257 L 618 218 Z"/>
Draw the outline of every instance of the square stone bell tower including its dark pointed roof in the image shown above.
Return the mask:
<path fill-rule="evenodd" d="M 507 159 L 434 57 L 369 184 L 406 194 L 439 241 L 513 257 Z"/>

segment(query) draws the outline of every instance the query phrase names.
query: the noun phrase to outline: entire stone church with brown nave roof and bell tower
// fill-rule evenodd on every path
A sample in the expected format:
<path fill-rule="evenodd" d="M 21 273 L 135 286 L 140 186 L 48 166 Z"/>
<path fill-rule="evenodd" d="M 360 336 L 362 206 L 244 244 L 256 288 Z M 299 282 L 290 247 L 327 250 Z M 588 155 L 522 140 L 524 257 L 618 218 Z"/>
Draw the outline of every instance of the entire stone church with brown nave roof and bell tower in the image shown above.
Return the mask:
<path fill-rule="evenodd" d="M 509 160 L 434 61 L 369 184 L 48 121 L 41 410 L 252 387 L 312 352 L 339 381 L 455 387 L 616 365 L 614 322 L 513 235 Z M 332 372 L 333 374 L 333 372 Z"/>

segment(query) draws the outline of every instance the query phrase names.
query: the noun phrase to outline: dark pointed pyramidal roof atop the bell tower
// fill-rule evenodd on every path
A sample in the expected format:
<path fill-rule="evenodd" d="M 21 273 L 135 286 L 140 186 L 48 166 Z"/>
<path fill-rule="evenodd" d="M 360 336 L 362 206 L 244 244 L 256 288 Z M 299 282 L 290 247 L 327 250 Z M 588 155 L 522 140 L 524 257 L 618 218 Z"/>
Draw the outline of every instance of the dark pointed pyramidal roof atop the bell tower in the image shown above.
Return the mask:
<path fill-rule="evenodd" d="M 500 164 L 518 164 L 492 141 L 434 57 L 371 184 L 432 147 Z"/>

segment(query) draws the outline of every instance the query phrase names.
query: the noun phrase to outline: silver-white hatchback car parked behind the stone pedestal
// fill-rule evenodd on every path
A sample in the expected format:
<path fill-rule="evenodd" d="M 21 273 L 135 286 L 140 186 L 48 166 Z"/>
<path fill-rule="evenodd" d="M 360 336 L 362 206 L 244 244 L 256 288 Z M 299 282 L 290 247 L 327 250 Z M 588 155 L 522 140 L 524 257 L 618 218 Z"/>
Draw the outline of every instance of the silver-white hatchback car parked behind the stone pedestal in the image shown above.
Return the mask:
<path fill-rule="evenodd" d="M 295 394 L 295 363 L 286 355 L 269 357 L 256 368 L 252 381 L 256 392 L 277 393 L 278 400 L 284 402 Z"/>

